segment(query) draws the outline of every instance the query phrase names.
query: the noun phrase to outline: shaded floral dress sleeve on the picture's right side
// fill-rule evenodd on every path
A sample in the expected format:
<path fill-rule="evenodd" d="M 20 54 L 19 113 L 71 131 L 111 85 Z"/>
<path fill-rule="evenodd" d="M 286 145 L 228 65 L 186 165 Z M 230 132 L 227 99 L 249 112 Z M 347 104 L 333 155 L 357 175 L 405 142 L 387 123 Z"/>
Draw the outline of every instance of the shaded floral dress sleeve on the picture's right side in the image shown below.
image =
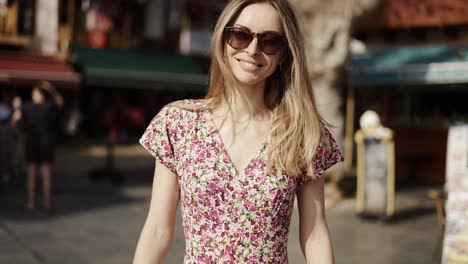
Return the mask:
<path fill-rule="evenodd" d="M 344 160 L 330 130 L 320 122 L 321 139 L 313 162 L 314 175 L 305 175 L 304 183 L 323 176 L 323 173 L 338 162 Z"/>

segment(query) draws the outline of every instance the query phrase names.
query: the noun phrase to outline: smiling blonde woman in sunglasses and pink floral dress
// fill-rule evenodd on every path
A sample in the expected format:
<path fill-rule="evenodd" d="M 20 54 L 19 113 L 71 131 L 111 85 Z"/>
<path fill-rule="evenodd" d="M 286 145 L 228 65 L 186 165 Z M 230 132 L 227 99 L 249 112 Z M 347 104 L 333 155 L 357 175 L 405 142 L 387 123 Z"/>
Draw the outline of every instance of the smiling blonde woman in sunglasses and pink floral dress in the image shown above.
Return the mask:
<path fill-rule="evenodd" d="M 323 171 L 342 160 L 314 104 L 287 0 L 233 0 L 212 39 L 205 100 L 164 107 L 141 144 L 156 157 L 134 263 L 162 263 L 181 201 L 185 263 L 287 263 L 294 195 L 307 263 L 333 263 Z"/>

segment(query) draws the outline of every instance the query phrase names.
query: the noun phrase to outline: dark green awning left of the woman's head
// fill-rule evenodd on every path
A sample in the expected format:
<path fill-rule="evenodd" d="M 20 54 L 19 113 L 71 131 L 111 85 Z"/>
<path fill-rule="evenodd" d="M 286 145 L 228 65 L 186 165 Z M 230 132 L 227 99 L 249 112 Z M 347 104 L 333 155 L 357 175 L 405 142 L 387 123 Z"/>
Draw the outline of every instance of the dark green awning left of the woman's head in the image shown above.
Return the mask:
<path fill-rule="evenodd" d="M 185 56 L 81 46 L 72 52 L 88 85 L 202 90 L 208 83 L 207 75 Z"/>

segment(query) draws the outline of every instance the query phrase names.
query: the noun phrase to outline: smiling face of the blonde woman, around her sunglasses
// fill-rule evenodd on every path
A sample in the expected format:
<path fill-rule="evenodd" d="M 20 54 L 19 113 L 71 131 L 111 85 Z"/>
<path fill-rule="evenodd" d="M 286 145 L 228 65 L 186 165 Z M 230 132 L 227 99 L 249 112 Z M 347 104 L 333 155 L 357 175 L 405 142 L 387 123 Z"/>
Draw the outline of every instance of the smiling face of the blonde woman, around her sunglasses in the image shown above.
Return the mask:
<path fill-rule="evenodd" d="M 244 8 L 232 25 L 246 29 L 247 32 L 264 33 L 276 32 L 284 35 L 281 19 L 276 9 L 266 3 L 252 4 Z M 242 49 L 231 47 L 225 43 L 227 63 L 234 77 L 242 84 L 262 87 L 265 80 L 273 74 L 281 63 L 282 52 L 268 55 L 258 44 L 258 37 L 253 38 L 250 44 Z"/>

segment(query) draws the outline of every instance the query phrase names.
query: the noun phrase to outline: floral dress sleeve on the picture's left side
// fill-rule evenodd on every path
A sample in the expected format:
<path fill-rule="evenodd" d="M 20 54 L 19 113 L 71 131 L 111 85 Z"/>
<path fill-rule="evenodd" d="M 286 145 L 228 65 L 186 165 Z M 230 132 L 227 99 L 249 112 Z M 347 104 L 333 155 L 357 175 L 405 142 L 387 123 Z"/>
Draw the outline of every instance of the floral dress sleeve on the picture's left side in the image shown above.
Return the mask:
<path fill-rule="evenodd" d="M 176 173 L 173 135 L 170 127 L 174 120 L 170 109 L 164 107 L 151 121 L 141 136 L 140 144 L 148 150 L 158 161 L 173 173 Z"/>

